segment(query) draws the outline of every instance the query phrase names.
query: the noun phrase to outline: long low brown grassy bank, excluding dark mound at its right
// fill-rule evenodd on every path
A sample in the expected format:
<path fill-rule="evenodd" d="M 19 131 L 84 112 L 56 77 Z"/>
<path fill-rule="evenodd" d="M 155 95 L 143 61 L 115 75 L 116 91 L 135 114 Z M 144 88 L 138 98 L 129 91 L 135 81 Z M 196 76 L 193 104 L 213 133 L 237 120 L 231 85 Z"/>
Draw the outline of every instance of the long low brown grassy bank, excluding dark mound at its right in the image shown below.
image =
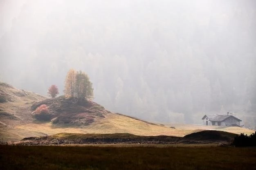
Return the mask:
<path fill-rule="evenodd" d="M 138 136 L 129 133 L 78 134 L 58 133 L 44 137 L 24 138 L 16 144 L 175 144 L 181 137 Z"/>

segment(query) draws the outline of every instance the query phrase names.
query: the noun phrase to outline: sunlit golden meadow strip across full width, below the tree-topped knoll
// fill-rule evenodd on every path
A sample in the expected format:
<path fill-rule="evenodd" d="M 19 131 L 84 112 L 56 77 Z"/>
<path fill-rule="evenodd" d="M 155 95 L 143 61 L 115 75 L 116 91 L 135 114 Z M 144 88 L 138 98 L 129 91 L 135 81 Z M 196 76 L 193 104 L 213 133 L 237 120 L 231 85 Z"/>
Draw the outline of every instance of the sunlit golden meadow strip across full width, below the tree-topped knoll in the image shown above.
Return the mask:
<path fill-rule="evenodd" d="M 254 130 L 240 127 L 202 126 L 191 124 L 172 124 L 172 126 L 174 126 L 175 129 L 170 128 L 171 126 L 167 125 L 160 126 L 147 124 L 144 121 L 132 119 L 130 117 L 108 114 L 106 115 L 106 119 L 101 119 L 88 126 L 81 127 L 54 126 L 51 122 L 31 122 L 13 128 L 3 127 L 0 129 L 0 137 L 3 138 L 4 141 L 18 141 L 25 137 L 40 137 L 63 132 L 83 134 L 130 133 L 143 136 L 168 135 L 177 137 L 184 137 L 185 135 L 202 130 L 220 130 L 235 134 L 245 133 L 247 135 L 255 132 Z"/>

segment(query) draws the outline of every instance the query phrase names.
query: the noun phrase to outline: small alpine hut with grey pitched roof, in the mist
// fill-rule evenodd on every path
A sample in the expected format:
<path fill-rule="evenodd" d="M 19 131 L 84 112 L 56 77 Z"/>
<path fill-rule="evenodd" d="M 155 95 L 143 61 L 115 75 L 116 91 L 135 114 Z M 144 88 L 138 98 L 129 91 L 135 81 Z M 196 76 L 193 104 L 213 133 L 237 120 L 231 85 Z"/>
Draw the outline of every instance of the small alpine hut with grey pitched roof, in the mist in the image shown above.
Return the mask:
<path fill-rule="evenodd" d="M 241 119 L 235 115 L 227 113 L 227 115 L 204 115 L 202 118 L 204 125 L 211 126 L 240 126 Z"/>

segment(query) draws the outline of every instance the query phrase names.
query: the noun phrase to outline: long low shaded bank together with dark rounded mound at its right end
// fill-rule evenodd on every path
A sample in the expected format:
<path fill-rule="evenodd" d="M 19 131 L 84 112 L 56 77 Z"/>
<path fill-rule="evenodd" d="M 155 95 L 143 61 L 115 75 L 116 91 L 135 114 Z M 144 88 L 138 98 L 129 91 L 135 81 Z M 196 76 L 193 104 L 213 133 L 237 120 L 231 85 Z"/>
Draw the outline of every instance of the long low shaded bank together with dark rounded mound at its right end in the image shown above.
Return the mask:
<path fill-rule="evenodd" d="M 52 144 L 230 144 L 236 134 L 204 130 L 191 133 L 184 137 L 173 136 L 139 136 L 129 133 L 112 134 L 79 134 L 58 133 L 43 137 L 26 137 L 16 144 L 19 145 L 52 145 Z"/>

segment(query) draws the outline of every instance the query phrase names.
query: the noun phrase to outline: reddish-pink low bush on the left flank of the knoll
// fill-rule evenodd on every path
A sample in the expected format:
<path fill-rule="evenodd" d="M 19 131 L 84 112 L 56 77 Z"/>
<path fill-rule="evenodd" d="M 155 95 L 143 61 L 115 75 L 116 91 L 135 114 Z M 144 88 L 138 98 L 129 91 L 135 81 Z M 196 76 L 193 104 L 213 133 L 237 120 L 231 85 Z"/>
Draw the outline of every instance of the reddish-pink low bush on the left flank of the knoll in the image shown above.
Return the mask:
<path fill-rule="evenodd" d="M 42 104 L 36 108 L 34 112 L 32 112 L 34 117 L 41 121 L 49 121 L 51 119 L 51 114 L 49 113 L 49 109 L 45 104 Z"/>

